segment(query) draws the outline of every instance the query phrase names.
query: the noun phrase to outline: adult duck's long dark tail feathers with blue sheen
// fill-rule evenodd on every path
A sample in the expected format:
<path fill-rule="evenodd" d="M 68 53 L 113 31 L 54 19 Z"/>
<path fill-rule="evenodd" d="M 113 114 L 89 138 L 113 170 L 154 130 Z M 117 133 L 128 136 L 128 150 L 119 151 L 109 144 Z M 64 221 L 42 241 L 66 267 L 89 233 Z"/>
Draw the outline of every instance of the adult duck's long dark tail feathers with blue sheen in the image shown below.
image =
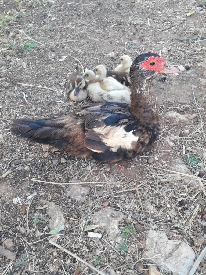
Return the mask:
<path fill-rule="evenodd" d="M 30 141 L 48 144 L 59 149 L 68 144 L 68 138 L 64 137 L 64 118 L 50 118 L 42 120 L 15 119 L 11 133 Z"/>

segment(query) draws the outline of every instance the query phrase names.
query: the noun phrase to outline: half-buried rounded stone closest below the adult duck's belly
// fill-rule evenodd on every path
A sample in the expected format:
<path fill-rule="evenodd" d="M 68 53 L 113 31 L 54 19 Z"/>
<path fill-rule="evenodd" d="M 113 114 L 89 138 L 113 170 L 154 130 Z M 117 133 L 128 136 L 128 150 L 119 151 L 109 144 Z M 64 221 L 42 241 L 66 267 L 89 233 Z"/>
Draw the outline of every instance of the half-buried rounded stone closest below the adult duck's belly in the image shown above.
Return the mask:
<path fill-rule="evenodd" d="M 76 177 L 72 178 L 75 184 L 70 184 L 65 190 L 65 194 L 69 197 L 74 198 L 79 203 L 83 203 L 86 196 L 89 194 L 89 186 L 86 183 L 78 184 L 80 182 Z"/>

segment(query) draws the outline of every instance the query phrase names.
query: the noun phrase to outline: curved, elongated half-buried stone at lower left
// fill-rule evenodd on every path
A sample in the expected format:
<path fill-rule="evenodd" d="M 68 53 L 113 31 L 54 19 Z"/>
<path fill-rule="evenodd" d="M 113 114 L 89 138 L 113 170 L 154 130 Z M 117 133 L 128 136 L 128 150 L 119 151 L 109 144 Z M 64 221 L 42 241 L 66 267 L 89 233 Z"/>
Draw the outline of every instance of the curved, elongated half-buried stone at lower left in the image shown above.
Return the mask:
<path fill-rule="evenodd" d="M 40 200 L 39 205 L 48 205 L 46 209 L 46 214 L 51 218 L 49 221 L 48 227 L 49 229 L 56 229 L 59 226 L 65 225 L 64 214 L 61 209 L 56 206 L 54 203 L 49 202 L 47 200 Z"/>

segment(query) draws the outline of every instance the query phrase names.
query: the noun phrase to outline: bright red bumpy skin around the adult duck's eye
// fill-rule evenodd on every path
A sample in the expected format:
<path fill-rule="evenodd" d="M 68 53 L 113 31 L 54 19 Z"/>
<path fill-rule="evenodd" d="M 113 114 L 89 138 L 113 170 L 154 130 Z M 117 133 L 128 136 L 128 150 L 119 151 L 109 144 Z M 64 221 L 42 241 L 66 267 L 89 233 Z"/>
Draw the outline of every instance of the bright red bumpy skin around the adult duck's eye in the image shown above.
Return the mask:
<path fill-rule="evenodd" d="M 155 71 L 160 73 L 164 69 L 166 60 L 159 56 L 150 56 L 146 61 L 144 61 L 140 68 L 144 68 L 146 71 Z"/>

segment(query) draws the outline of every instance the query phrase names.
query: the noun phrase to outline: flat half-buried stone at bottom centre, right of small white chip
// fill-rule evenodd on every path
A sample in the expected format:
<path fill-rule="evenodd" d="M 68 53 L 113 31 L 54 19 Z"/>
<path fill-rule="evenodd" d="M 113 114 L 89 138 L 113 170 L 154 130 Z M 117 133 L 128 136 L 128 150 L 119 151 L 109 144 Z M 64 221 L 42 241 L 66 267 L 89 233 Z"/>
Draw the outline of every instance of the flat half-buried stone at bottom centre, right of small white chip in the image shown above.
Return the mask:
<path fill-rule="evenodd" d="M 100 229 L 105 230 L 110 240 L 118 243 L 122 240 L 118 225 L 123 218 L 125 215 L 121 211 L 103 208 L 94 213 L 92 222 L 98 224 Z"/>

